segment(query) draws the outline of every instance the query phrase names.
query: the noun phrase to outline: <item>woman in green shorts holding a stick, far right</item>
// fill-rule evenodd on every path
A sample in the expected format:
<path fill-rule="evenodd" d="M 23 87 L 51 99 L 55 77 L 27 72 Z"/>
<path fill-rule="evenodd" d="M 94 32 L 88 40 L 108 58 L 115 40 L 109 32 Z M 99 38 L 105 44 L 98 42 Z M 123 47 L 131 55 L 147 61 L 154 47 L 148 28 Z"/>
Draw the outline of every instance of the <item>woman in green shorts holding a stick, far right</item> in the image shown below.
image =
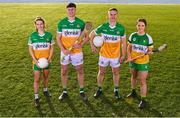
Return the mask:
<path fill-rule="evenodd" d="M 153 40 L 150 35 L 145 32 L 146 20 L 137 20 L 137 32 L 132 33 L 129 37 L 128 44 L 128 60 L 144 55 L 141 58 L 130 62 L 131 67 L 131 88 L 132 92 L 127 97 L 136 97 L 135 87 L 136 79 L 139 76 L 141 80 L 141 101 L 139 108 L 146 106 L 146 95 L 147 95 L 147 76 L 149 70 L 149 54 L 152 53 Z"/>

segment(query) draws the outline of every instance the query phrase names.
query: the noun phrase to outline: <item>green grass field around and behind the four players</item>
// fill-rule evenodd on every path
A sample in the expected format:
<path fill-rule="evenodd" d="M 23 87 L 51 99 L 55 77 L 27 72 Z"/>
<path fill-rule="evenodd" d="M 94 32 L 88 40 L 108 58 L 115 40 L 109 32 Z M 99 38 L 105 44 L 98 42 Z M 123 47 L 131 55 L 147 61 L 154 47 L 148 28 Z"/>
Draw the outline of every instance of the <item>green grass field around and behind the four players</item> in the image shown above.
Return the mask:
<path fill-rule="evenodd" d="M 163 43 L 168 49 L 151 58 L 148 78 L 148 108 L 139 110 L 138 100 L 129 104 L 113 98 L 110 68 L 103 84 L 103 99 L 94 99 L 98 55 L 93 55 L 89 44 L 85 52 L 85 82 L 89 97 L 87 104 L 79 99 L 79 87 L 74 68 L 70 66 L 69 100 L 58 101 L 62 90 L 60 82 L 59 48 L 55 45 L 54 59 L 49 77 L 50 101 L 42 94 L 41 108 L 33 105 L 33 74 L 28 54 L 27 38 L 34 30 L 36 16 L 46 19 L 47 29 L 55 36 L 57 22 L 66 16 L 65 4 L 0 4 L 0 117 L 3 116 L 176 116 L 180 117 L 180 5 L 118 5 L 79 4 L 77 16 L 92 21 L 94 27 L 107 20 L 107 10 L 116 7 L 120 11 L 119 22 L 127 29 L 127 36 L 136 31 L 139 17 L 148 21 L 148 33 L 155 47 Z M 130 76 L 127 64 L 121 66 L 120 91 L 130 92 Z M 139 88 L 139 86 L 138 86 Z M 139 89 L 138 89 L 139 90 Z"/>

